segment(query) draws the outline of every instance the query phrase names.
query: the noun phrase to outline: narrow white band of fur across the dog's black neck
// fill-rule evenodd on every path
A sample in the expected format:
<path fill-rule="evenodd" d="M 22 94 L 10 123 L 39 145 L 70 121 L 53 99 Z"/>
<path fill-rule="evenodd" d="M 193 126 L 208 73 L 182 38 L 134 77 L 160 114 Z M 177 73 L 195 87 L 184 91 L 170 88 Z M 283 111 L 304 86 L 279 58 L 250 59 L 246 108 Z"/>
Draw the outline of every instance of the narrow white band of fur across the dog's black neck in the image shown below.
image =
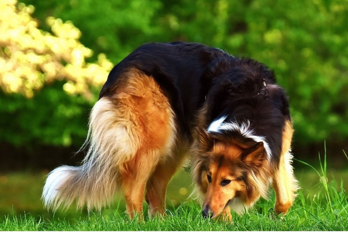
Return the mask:
<path fill-rule="evenodd" d="M 226 118 L 227 116 L 222 116 L 221 118 L 212 121 L 207 131 L 217 133 L 221 133 L 222 130 L 238 131 L 245 138 L 251 138 L 255 142 L 263 142 L 264 150 L 266 151 L 268 158 L 271 158 L 272 152 L 266 138 L 264 136 L 254 135 L 254 130 L 250 128 L 249 120 L 246 120 L 239 125 L 237 122 L 224 122 Z"/>

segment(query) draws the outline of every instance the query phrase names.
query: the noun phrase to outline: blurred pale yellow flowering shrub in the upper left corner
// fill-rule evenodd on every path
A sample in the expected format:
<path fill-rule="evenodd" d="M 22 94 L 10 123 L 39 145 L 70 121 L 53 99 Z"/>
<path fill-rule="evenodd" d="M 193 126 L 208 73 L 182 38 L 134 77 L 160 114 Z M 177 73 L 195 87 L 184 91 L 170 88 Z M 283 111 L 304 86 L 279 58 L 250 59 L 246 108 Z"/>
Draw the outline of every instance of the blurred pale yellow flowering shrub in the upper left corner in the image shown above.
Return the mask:
<path fill-rule="evenodd" d="M 72 22 L 48 17 L 53 34 L 38 29 L 34 7 L 0 1 L 0 86 L 7 93 L 32 97 L 46 83 L 63 80 L 69 94 L 90 96 L 89 86 L 102 85 L 113 64 L 104 54 L 86 63 L 92 50 L 79 42 L 81 32 Z"/>

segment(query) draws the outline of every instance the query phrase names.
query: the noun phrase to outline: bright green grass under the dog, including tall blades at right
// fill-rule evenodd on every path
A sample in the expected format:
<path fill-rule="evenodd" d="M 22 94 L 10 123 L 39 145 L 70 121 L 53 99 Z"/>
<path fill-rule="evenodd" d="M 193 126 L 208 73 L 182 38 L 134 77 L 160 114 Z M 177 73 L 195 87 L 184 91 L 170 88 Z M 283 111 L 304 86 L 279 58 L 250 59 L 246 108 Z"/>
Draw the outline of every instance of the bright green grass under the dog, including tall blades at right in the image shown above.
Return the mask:
<path fill-rule="evenodd" d="M 149 219 L 146 213 L 147 207 L 145 206 L 146 219 L 144 222 L 129 221 L 126 214 L 122 213 L 124 211 L 122 201 L 116 201 L 111 207 L 112 209 L 105 209 L 101 214 L 91 213 L 87 215 L 86 212 L 82 211 L 80 215 L 73 215 L 71 209 L 58 211 L 56 215 L 48 213 L 40 215 L 30 211 L 30 213 L 18 216 L 14 212 L 12 215 L 0 219 L 0 230 L 347 231 L 348 201 L 345 191 L 346 186 L 343 185 L 342 177 L 340 179 L 334 178 L 327 170 L 326 154 L 324 154 L 324 160 L 320 162 L 319 171 L 308 163 L 298 162 L 303 166 L 310 167 L 312 171 L 296 173 L 296 175 L 302 176 L 300 182 L 301 185 L 303 183 L 304 185 L 299 191 L 294 206 L 282 219 L 272 212 L 274 193 L 271 192 L 269 200 L 261 199 L 247 214 L 233 214 L 233 223 L 204 219 L 200 214 L 201 207 L 193 201 L 183 202 L 179 206 L 175 206 L 173 203 L 175 201 L 169 201 L 166 218 Z M 313 181 L 314 175 L 317 180 L 315 182 Z M 187 181 L 188 178 L 185 176 L 183 179 Z M 182 188 L 180 189 L 182 190 Z M 177 190 L 173 189 L 175 189 L 173 185 L 169 186 L 169 190 L 175 192 L 175 194 L 169 193 L 169 196 L 171 194 L 172 196 L 179 195 Z M 168 198 L 171 199 L 172 197 Z"/>

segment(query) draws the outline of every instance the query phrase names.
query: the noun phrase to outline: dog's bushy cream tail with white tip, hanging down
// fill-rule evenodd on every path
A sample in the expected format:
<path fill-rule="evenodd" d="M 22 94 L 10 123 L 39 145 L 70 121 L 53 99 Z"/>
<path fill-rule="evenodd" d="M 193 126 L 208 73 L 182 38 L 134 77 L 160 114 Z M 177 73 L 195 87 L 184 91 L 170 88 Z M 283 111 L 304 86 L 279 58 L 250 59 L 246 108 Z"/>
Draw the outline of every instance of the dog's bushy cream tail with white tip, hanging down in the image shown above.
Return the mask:
<path fill-rule="evenodd" d="M 42 192 L 47 208 L 69 207 L 76 200 L 77 207 L 100 210 L 112 200 L 118 171 L 137 147 L 123 116 L 109 98 L 94 105 L 82 146 L 88 146 L 87 155 L 79 167 L 61 166 L 49 173 Z"/>

